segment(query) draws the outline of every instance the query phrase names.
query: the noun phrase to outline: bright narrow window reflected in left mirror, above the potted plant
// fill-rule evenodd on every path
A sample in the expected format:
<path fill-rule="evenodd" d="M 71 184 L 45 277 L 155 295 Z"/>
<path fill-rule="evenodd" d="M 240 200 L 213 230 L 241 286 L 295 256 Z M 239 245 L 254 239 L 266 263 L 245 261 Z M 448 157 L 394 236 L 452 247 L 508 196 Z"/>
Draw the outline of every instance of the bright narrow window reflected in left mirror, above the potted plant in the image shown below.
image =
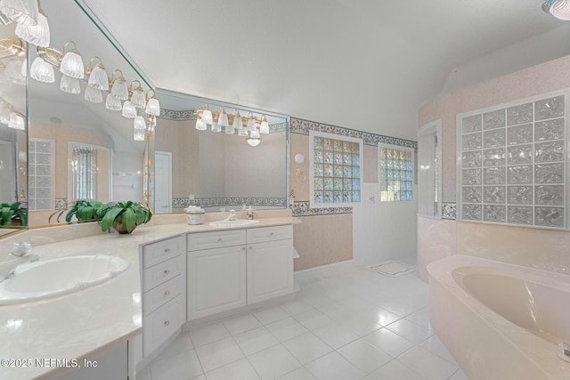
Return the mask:
<path fill-rule="evenodd" d="M 71 148 L 71 194 L 73 199 L 96 197 L 97 150 L 85 145 Z"/>

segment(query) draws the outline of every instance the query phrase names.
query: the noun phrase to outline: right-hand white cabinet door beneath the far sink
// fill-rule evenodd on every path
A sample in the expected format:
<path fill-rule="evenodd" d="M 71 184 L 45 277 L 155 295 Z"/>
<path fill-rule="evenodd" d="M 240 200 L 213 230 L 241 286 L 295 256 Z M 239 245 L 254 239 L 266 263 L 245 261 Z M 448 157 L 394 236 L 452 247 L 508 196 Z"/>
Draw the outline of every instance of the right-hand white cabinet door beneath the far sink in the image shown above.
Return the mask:
<path fill-rule="evenodd" d="M 248 245 L 248 304 L 293 292 L 293 240 Z"/>

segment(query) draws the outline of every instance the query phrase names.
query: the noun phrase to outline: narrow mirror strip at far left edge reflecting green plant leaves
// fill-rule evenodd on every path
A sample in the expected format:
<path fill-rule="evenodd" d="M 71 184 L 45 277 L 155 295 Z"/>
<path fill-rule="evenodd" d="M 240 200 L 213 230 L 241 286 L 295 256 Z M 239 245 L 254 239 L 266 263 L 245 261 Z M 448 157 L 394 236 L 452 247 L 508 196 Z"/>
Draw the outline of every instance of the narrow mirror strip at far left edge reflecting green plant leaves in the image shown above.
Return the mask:
<path fill-rule="evenodd" d="M 27 45 L 0 17 L 0 236 L 28 225 Z"/>

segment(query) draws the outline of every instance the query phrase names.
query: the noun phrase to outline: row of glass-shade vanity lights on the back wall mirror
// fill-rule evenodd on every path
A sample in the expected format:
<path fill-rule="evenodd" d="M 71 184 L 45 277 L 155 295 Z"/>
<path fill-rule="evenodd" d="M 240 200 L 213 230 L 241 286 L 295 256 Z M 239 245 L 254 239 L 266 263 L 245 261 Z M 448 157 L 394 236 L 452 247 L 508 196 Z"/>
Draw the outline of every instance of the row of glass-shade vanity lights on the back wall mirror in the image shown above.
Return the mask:
<path fill-rule="evenodd" d="M 196 129 L 206 131 L 208 125 L 212 132 L 222 132 L 226 134 L 238 133 L 238 136 L 245 137 L 248 144 L 256 147 L 261 142 L 261 134 L 269 133 L 269 123 L 265 115 L 256 118 L 253 112 L 249 111 L 248 117 L 241 117 L 240 110 L 236 109 L 234 114 L 228 115 L 225 109 L 212 111 L 208 104 L 204 109 L 194 110 L 197 117 Z"/>

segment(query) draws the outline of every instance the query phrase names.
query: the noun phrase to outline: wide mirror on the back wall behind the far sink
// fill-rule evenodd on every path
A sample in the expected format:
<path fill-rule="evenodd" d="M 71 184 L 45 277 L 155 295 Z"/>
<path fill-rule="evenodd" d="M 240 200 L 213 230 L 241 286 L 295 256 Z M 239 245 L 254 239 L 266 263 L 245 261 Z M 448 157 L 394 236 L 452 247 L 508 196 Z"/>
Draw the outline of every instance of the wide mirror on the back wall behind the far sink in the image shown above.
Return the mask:
<path fill-rule="evenodd" d="M 157 97 L 156 213 L 288 206 L 287 116 L 164 90 Z"/>

